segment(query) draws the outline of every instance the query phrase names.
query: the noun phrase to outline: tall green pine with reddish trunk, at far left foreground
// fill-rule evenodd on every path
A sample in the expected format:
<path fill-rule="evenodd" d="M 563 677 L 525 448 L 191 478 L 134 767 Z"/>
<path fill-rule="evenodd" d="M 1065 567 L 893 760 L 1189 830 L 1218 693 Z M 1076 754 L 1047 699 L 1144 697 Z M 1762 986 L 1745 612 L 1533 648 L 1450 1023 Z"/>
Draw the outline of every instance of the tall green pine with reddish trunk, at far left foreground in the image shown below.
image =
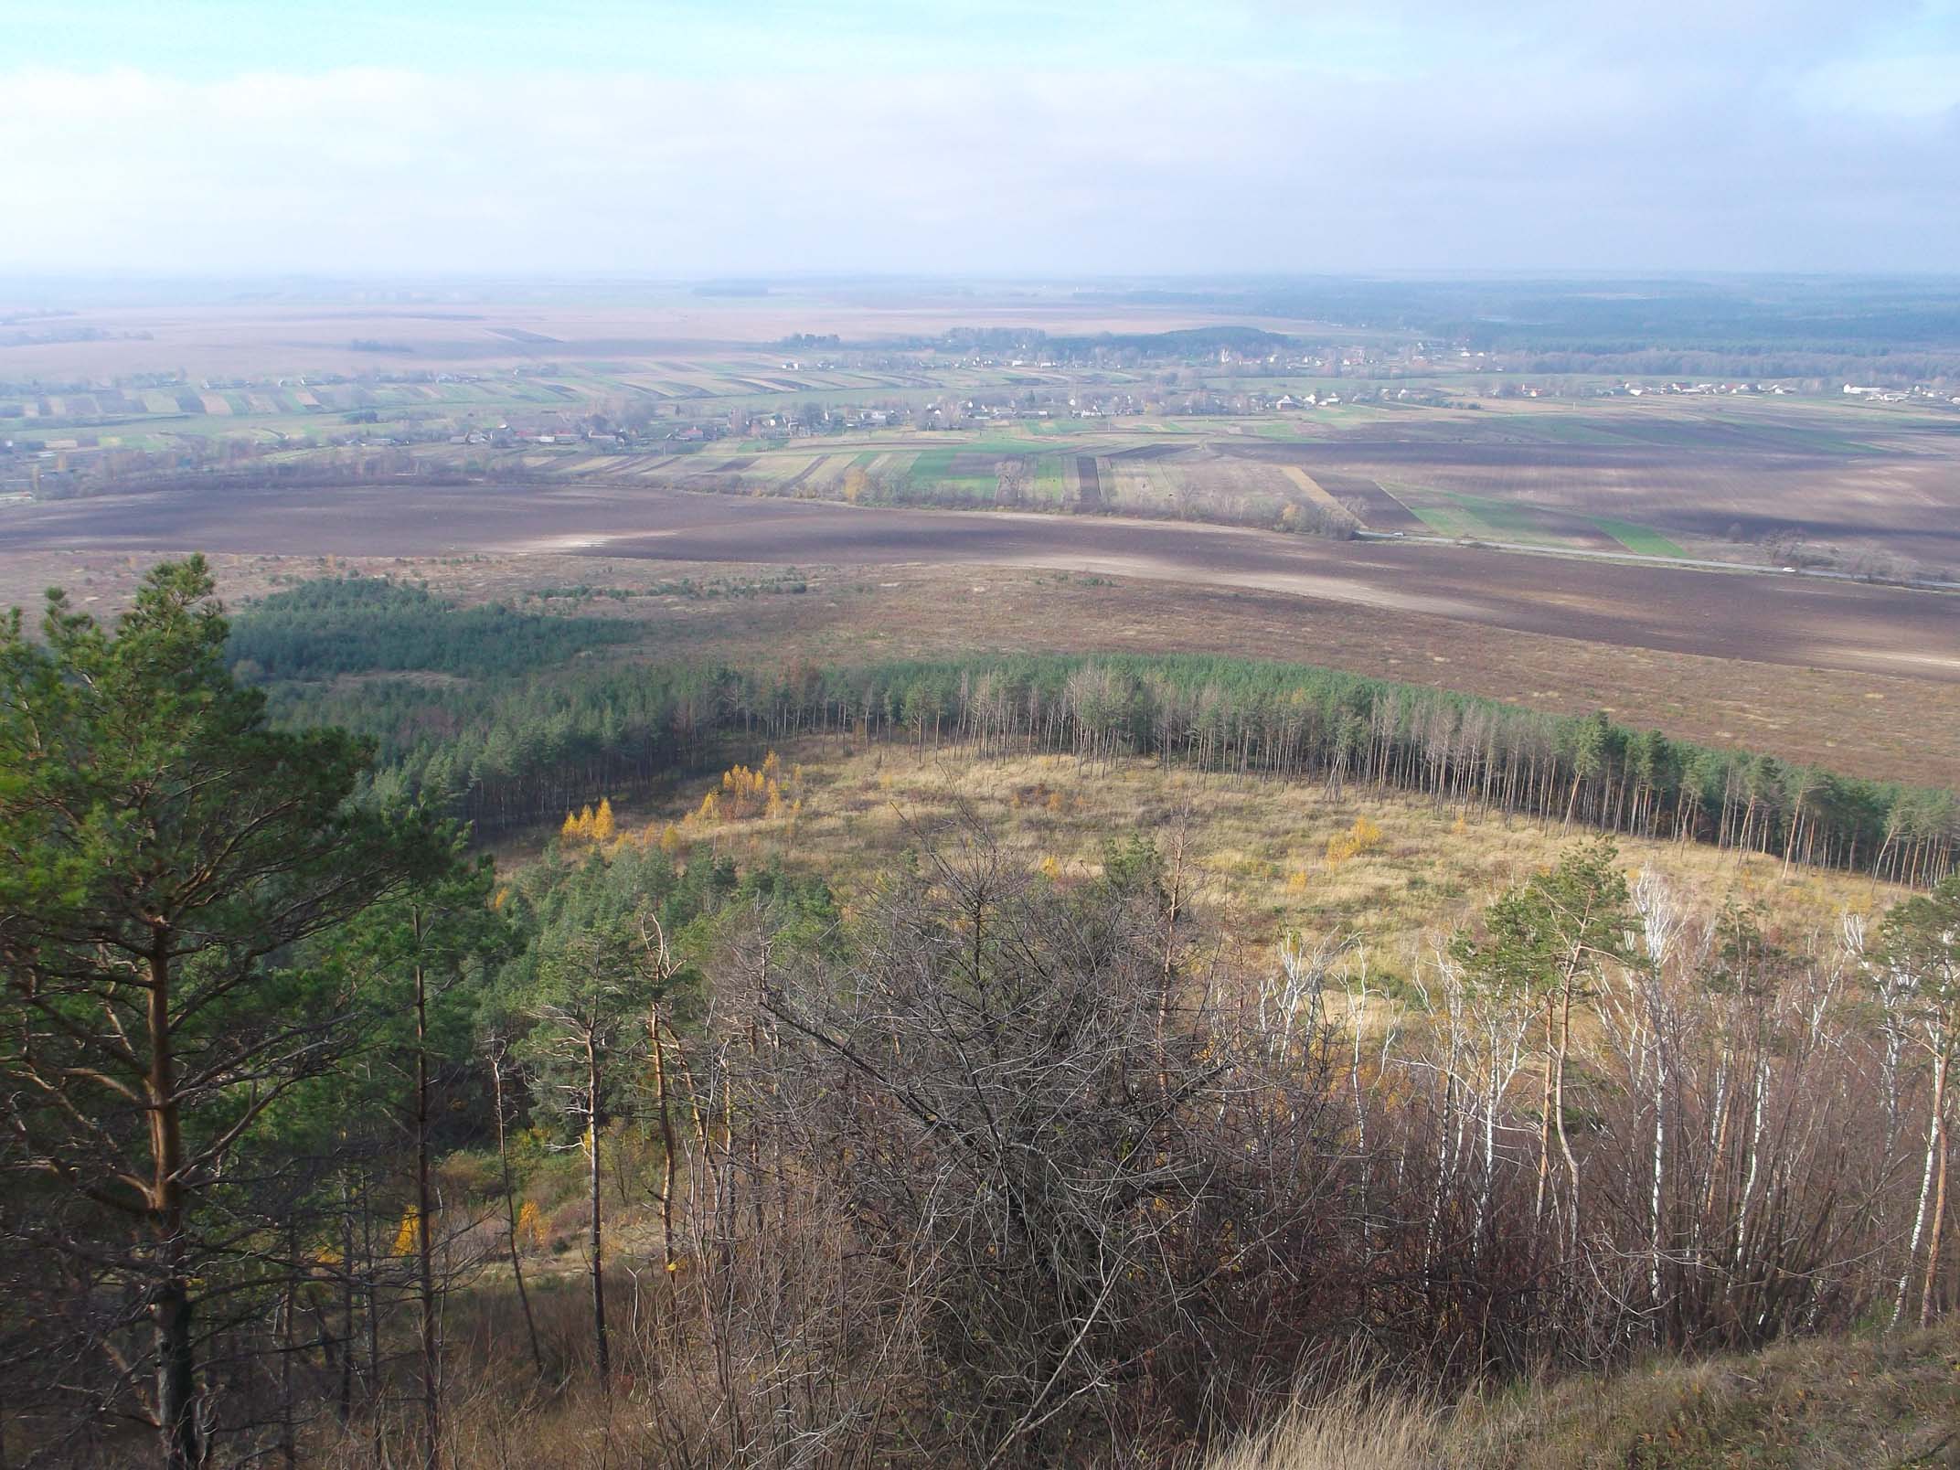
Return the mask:
<path fill-rule="evenodd" d="M 0 625 L 8 1249 L 112 1303 L 114 1396 L 172 1470 L 206 1452 L 200 1307 L 282 1270 L 253 1258 L 267 1131 L 359 1043 L 345 990 L 284 960 L 449 853 L 355 804 L 367 743 L 267 725 L 212 592 L 194 557 L 114 629 L 59 592 L 39 643 Z"/>

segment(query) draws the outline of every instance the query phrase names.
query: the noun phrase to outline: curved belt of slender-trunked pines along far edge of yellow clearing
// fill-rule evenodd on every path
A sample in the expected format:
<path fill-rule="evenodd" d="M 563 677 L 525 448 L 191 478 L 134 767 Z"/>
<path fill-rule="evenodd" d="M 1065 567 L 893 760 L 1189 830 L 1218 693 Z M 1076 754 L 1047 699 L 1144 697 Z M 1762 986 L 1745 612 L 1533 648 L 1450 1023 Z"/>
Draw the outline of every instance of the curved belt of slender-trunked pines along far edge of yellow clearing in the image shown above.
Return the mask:
<path fill-rule="evenodd" d="M 321 702 L 325 700 L 325 702 Z M 1960 804 L 1450 690 L 1249 659 L 1013 657 L 606 670 L 521 688 L 306 694 L 306 717 L 372 731 L 382 776 L 482 829 L 557 819 L 645 788 L 727 741 L 798 735 L 960 745 L 976 755 L 1149 757 L 1233 780 L 1421 792 L 1439 806 L 1768 853 L 1931 884 L 1954 866 Z"/>

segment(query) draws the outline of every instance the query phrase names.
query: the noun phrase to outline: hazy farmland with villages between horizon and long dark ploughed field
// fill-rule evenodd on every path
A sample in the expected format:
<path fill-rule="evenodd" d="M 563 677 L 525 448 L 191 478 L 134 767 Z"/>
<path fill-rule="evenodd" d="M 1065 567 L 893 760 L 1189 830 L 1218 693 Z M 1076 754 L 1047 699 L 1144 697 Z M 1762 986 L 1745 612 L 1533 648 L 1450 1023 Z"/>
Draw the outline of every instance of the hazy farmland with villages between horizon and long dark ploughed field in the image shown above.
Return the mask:
<path fill-rule="evenodd" d="M 0 490 L 253 466 L 564 478 L 1884 576 L 1960 568 L 1960 414 L 1944 400 L 1635 396 L 1597 378 L 1525 398 L 1397 339 L 1321 351 L 1327 365 L 1380 359 L 1354 378 L 1284 363 L 1247 376 L 1247 363 L 1196 357 L 1170 370 L 1045 361 L 931 335 L 976 310 L 676 290 L 613 310 L 80 312 L 73 339 L 0 353 L 0 443 L 59 457 L 0 457 Z M 1194 323 L 1053 296 L 982 312 L 1004 318 L 1051 333 Z"/>

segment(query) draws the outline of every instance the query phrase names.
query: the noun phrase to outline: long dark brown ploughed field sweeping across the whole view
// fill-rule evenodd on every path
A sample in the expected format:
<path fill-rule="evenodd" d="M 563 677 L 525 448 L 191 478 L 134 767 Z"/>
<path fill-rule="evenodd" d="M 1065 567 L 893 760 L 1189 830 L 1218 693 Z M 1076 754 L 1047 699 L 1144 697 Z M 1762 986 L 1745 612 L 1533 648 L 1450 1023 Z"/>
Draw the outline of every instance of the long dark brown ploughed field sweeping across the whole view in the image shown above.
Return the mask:
<path fill-rule="evenodd" d="M 1960 598 L 1817 578 L 1335 543 L 1113 517 L 847 508 L 651 488 L 363 484 L 151 492 L 0 510 L 0 557 L 51 551 L 980 564 L 1284 592 L 1490 637 L 1960 682 Z"/>

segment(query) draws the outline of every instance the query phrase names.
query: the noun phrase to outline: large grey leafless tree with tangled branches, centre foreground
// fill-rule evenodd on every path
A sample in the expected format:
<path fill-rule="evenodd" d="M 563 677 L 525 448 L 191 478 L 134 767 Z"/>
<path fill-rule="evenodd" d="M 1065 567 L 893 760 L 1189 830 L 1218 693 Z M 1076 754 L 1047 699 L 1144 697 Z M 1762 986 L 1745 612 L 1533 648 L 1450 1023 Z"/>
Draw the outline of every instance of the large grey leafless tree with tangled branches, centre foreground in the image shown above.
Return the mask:
<path fill-rule="evenodd" d="M 1176 931 L 1160 1015 L 1160 902 L 1056 894 L 986 833 L 937 833 L 835 972 L 764 1002 L 800 1039 L 784 1068 L 827 1100 L 809 1154 L 849 1158 L 855 1235 L 925 1294 L 980 1464 L 1115 1411 L 1219 1309 L 1221 1278 L 1325 1203 L 1331 1068 L 1311 1047 L 1268 1066 L 1258 1027 L 1184 984 Z"/>

